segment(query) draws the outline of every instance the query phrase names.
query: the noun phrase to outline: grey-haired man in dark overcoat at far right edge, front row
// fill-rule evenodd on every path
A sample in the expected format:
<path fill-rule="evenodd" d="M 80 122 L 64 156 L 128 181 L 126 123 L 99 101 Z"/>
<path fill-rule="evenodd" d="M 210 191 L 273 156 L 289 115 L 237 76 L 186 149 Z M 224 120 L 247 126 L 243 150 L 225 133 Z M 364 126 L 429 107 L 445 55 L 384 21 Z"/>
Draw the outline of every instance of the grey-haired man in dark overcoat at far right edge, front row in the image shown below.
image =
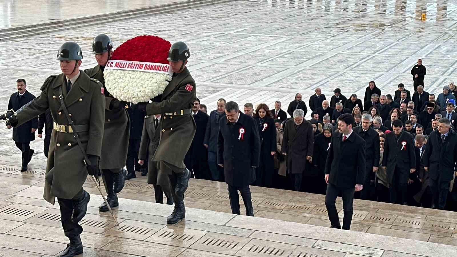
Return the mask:
<path fill-rule="evenodd" d="M 444 209 L 449 182 L 457 171 L 457 134 L 447 118 L 438 121 L 438 131 L 430 133 L 424 156 L 424 169 L 429 171 L 430 189 L 435 207 Z"/>

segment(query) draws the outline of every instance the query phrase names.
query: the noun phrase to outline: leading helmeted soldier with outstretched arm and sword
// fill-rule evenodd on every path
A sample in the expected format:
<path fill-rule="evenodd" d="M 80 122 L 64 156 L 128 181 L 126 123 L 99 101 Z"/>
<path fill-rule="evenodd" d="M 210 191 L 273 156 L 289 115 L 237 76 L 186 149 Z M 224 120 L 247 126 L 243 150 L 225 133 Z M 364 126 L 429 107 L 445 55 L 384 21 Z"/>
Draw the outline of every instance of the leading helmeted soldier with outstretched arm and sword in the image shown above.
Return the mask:
<path fill-rule="evenodd" d="M 62 73 L 48 77 L 41 87 L 41 95 L 16 113 L 7 112 L 7 124 L 20 126 L 50 109 L 53 132 L 48 153 L 44 199 L 60 205 L 65 236 L 70 243 L 61 257 L 83 252 L 78 224 L 86 214 L 90 195 L 83 189 L 89 175 L 99 172 L 101 139 L 105 121 L 103 85 L 78 68 L 83 59 L 80 46 L 66 42 L 58 50 Z"/>

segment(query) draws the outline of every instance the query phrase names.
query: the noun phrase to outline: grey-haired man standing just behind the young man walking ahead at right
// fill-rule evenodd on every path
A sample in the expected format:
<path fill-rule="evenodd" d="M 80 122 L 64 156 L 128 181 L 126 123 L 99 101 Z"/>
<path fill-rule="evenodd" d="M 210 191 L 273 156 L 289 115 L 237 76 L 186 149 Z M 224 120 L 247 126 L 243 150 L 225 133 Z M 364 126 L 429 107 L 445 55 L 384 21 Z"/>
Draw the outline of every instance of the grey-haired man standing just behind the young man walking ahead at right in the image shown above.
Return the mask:
<path fill-rule="evenodd" d="M 365 140 L 365 181 L 360 197 L 363 200 L 376 200 L 375 179 L 376 171 L 379 166 L 379 134 L 371 127 L 372 117 L 366 113 L 362 115 L 362 125 L 353 129 Z M 380 129 L 382 130 L 382 129 Z"/>

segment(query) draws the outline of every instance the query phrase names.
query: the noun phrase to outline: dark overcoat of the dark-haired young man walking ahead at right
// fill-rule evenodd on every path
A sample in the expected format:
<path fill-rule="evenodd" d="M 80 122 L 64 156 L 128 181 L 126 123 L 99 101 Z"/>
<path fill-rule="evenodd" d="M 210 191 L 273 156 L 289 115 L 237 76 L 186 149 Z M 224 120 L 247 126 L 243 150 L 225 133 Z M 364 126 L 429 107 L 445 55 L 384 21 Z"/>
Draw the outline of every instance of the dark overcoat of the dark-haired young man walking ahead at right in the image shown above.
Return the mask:
<path fill-rule="evenodd" d="M 342 134 L 332 134 L 329 154 L 325 162 L 325 174 L 329 183 L 341 188 L 363 185 L 365 179 L 365 141 L 352 131 L 343 142 Z"/>

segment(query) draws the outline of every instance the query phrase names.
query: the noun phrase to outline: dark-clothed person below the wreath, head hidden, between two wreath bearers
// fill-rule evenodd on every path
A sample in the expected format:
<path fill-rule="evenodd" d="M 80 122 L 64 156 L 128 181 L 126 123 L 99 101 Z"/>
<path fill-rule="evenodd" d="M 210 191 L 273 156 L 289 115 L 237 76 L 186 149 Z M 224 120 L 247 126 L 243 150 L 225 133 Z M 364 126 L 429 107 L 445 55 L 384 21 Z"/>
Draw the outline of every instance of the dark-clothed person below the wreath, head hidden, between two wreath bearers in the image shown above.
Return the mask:
<path fill-rule="evenodd" d="M 125 180 L 137 177 L 135 171 L 141 171 L 141 176 L 148 174 L 148 159 L 145 160 L 146 165 L 144 167 L 138 164 L 138 152 L 140 150 L 141 134 L 143 134 L 143 123 L 146 111 L 138 109 L 138 106 L 134 103 L 129 103 L 126 108 L 128 117 L 130 118 L 130 138 L 128 141 L 128 152 L 127 166 L 128 174 Z"/>

